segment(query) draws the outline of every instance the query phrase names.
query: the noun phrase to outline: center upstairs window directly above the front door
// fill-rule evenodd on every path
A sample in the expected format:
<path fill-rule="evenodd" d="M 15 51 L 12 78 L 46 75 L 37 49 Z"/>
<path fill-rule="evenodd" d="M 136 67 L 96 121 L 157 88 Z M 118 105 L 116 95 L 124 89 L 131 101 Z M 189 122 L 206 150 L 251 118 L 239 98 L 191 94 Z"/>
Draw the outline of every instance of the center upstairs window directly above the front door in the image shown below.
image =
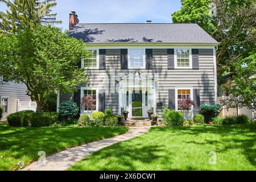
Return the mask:
<path fill-rule="evenodd" d="M 130 49 L 130 68 L 143 68 L 144 67 L 144 50 L 143 49 Z"/>

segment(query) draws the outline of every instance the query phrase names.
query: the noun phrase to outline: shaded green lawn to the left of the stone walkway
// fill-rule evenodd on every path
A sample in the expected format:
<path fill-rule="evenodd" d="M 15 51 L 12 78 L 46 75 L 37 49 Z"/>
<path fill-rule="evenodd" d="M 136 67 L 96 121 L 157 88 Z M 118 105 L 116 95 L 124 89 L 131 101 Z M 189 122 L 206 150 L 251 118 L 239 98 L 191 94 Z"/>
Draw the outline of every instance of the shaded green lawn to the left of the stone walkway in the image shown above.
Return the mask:
<path fill-rule="evenodd" d="M 39 158 L 38 152 L 52 155 L 66 148 L 123 134 L 127 127 L 42 127 L 0 125 L 0 170 L 18 169 Z M 19 163 L 19 164 L 18 164 Z"/>

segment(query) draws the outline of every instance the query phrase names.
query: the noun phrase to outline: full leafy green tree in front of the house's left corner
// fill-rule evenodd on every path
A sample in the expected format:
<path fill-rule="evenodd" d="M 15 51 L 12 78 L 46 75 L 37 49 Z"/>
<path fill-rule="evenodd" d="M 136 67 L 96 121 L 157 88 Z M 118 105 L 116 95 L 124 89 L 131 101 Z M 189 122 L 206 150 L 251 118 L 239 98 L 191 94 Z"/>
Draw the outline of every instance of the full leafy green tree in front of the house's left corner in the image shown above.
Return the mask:
<path fill-rule="evenodd" d="M 81 57 L 88 55 L 85 44 L 60 28 L 27 27 L 0 39 L 0 75 L 26 84 L 38 112 L 42 112 L 44 94 L 56 90 L 71 93 L 87 81 L 85 70 L 78 66 Z"/>

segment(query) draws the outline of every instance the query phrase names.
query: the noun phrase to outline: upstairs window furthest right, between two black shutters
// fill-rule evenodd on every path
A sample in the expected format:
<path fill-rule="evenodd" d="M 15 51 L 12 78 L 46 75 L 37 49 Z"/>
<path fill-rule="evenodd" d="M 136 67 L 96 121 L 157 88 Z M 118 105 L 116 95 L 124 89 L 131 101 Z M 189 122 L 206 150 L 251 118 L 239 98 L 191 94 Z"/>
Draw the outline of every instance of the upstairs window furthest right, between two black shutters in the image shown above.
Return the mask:
<path fill-rule="evenodd" d="M 192 68 L 190 49 L 176 49 L 176 68 Z"/>

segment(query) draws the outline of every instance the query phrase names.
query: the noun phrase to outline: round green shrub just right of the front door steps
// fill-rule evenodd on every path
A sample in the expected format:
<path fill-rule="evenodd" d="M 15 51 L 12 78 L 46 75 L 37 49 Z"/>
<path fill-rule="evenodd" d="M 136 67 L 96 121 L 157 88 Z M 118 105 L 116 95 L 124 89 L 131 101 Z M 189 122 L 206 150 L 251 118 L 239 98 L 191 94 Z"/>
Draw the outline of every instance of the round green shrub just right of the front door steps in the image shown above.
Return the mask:
<path fill-rule="evenodd" d="M 164 123 L 167 126 L 183 126 L 185 119 L 179 111 L 167 111 L 164 119 Z"/>

